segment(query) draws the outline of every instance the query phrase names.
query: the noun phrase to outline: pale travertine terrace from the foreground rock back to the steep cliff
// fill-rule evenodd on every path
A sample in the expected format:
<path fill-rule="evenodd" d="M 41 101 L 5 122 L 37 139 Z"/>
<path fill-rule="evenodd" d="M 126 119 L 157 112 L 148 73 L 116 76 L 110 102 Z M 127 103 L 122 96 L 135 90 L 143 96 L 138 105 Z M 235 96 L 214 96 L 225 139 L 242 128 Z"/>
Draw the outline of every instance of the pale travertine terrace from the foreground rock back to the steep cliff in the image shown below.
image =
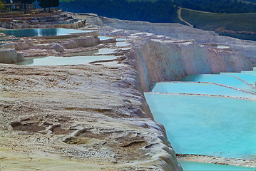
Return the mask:
<path fill-rule="evenodd" d="M 182 170 L 143 91 L 188 73 L 251 70 L 250 61 L 232 48 L 110 28 L 95 15 L 76 17 L 88 20 L 81 29 L 92 32 L 21 38 L 4 48 L 24 58 L 111 48 L 116 59 L 67 66 L 0 64 L 1 168 Z"/>

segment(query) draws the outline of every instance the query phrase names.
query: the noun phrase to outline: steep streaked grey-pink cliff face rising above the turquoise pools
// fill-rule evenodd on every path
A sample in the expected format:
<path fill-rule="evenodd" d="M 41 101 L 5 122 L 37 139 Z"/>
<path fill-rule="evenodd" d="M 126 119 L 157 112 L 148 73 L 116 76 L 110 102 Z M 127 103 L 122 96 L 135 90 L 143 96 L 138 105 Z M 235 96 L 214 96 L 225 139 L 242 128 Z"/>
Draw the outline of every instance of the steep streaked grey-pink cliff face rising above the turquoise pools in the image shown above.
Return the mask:
<path fill-rule="evenodd" d="M 252 64 L 237 51 L 201 47 L 197 43 L 135 43 L 133 54 L 141 85 L 149 91 L 153 83 L 178 81 L 186 74 L 239 72 L 252 70 Z"/>

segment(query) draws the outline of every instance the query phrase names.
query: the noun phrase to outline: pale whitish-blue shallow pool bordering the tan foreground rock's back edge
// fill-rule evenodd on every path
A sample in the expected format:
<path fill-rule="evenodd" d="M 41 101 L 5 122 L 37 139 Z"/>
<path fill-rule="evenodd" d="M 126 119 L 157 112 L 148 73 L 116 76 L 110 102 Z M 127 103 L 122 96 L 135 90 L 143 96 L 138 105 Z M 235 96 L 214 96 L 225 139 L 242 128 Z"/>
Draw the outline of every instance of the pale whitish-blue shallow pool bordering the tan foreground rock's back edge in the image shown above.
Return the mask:
<path fill-rule="evenodd" d="M 73 56 L 73 57 L 56 57 L 47 56 L 41 58 L 25 58 L 25 61 L 16 63 L 26 66 L 61 66 L 61 65 L 78 65 L 86 64 L 93 61 L 106 61 L 116 59 L 116 56 Z"/>

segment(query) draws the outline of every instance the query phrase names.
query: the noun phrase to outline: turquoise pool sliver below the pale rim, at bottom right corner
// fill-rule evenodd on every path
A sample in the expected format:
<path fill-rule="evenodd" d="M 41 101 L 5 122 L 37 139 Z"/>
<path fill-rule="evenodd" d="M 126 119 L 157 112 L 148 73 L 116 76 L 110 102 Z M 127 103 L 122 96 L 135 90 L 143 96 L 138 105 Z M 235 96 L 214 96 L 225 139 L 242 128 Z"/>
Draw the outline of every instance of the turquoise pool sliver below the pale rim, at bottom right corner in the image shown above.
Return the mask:
<path fill-rule="evenodd" d="M 191 170 L 256 170 L 253 167 L 241 167 L 241 166 L 232 166 L 232 165 L 216 165 L 213 163 L 203 163 L 203 162 L 188 162 L 178 160 L 180 165 L 183 167 L 184 171 Z"/>

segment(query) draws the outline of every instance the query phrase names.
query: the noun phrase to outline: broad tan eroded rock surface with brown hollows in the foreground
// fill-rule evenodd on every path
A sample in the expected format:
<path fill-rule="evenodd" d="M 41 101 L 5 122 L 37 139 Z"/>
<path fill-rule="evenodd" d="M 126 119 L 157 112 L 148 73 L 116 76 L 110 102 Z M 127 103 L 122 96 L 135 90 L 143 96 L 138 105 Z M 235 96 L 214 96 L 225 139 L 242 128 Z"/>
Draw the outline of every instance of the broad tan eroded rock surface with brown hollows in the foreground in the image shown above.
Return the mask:
<path fill-rule="evenodd" d="M 71 160 L 62 165 L 70 170 L 180 170 L 163 126 L 152 120 L 136 88 L 137 78 L 129 65 L 1 64 L 0 143 L 8 152 L 2 165 L 19 170 L 19 162 L 7 165 L 16 159 L 31 170 L 58 170 L 58 162 Z M 57 157 L 57 164 L 46 165 L 46 156 Z M 76 160 L 81 162 L 74 167 Z"/>

